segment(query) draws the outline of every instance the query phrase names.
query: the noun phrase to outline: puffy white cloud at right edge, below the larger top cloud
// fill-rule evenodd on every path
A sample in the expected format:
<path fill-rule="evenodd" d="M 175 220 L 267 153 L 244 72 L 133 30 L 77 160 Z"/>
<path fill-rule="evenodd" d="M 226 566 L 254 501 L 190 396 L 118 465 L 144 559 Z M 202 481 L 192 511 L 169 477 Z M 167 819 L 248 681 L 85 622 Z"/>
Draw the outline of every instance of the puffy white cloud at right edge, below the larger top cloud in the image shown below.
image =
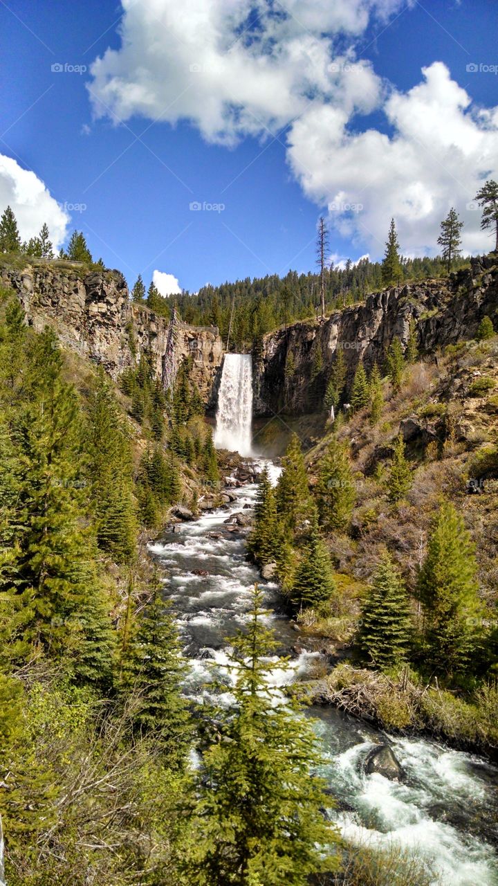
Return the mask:
<path fill-rule="evenodd" d="M 464 221 L 466 251 L 491 245 L 472 198 L 484 178 L 498 176 L 496 110 L 474 108 L 441 62 L 423 76 L 408 92 L 386 98 L 393 136 L 351 133 L 327 105 L 304 114 L 289 135 L 288 159 L 307 196 L 330 206 L 338 231 L 377 256 L 392 216 L 405 254 L 436 251 L 451 206 Z"/>

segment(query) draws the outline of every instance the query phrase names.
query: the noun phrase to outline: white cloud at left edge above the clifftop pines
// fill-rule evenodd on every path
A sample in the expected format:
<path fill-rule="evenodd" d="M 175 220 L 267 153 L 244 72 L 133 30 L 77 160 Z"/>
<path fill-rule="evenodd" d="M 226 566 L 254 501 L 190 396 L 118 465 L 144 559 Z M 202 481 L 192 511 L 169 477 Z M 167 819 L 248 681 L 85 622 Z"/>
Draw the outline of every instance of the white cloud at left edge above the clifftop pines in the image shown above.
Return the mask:
<path fill-rule="evenodd" d="M 62 245 L 69 215 L 34 172 L 20 167 L 12 157 L 0 154 L 0 212 L 7 206 L 11 206 L 16 216 L 22 240 L 36 237 L 46 222 L 53 245 L 56 249 Z"/>

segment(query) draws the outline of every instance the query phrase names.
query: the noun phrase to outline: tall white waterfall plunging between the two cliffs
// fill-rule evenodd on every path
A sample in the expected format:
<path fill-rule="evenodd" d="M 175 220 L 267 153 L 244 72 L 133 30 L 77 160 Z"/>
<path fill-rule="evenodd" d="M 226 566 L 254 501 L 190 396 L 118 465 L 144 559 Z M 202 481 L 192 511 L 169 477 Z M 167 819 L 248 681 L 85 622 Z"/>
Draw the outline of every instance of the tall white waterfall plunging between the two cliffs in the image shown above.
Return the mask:
<path fill-rule="evenodd" d="M 226 354 L 218 394 L 214 446 L 240 455 L 252 455 L 253 358 Z"/>

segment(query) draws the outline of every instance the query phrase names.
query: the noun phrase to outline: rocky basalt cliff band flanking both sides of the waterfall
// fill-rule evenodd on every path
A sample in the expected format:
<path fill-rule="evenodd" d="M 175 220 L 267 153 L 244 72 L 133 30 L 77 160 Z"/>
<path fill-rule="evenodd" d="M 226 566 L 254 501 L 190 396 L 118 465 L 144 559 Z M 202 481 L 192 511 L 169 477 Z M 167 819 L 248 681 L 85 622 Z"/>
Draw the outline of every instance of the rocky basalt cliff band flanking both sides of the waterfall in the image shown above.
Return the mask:
<path fill-rule="evenodd" d="M 151 354 L 165 384 L 184 356 L 193 358 L 195 379 L 207 409 L 213 409 L 222 372 L 223 343 L 216 327 L 170 323 L 130 301 L 119 271 L 88 272 L 77 262 L 33 261 L 0 267 L 0 282 L 17 294 L 27 322 L 51 325 L 61 344 L 102 364 L 114 378 L 140 354 Z M 405 344 L 416 321 L 420 352 L 434 353 L 461 338 L 473 338 L 484 315 L 498 324 L 498 256 L 471 260 L 442 280 L 422 280 L 367 296 L 326 320 L 303 321 L 268 333 L 253 354 L 255 416 L 300 416 L 322 408 L 338 349 L 348 379 L 363 361 L 381 366 L 394 337 Z"/>

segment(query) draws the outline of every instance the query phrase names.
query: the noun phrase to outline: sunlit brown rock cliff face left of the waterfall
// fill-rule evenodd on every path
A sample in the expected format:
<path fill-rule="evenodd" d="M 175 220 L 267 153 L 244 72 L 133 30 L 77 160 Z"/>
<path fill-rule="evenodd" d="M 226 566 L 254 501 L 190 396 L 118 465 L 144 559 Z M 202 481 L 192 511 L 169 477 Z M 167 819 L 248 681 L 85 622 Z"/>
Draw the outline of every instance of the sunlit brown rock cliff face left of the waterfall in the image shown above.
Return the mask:
<path fill-rule="evenodd" d="M 61 344 L 101 363 L 114 379 L 149 351 L 159 377 L 175 374 L 192 354 L 192 375 L 207 407 L 214 405 L 223 346 L 216 327 L 177 322 L 167 356 L 169 323 L 132 304 L 119 271 L 84 272 L 76 262 L 35 262 L 22 270 L 1 269 L 1 281 L 19 296 L 27 322 L 50 325 Z M 168 367 L 168 370 L 167 370 Z"/>

